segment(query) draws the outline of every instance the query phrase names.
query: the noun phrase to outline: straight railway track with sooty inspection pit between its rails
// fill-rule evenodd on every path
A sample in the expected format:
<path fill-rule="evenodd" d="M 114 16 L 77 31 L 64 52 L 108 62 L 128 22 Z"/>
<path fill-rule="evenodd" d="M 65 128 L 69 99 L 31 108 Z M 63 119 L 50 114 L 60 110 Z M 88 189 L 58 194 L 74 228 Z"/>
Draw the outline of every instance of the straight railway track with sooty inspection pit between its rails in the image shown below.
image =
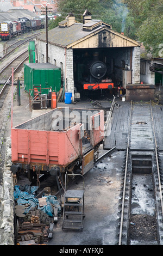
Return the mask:
<path fill-rule="evenodd" d="M 162 170 L 154 123 L 151 102 L 131 102 L 118 245 L 163 243 Z"/>

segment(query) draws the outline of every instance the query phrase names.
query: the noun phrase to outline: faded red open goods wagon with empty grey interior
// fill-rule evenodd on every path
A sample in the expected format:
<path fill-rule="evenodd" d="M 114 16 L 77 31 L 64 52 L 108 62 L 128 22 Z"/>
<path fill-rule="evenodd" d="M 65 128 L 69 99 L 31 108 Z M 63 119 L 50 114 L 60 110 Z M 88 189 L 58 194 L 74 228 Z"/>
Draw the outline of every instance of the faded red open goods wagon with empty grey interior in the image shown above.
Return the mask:
<path fill-rule="evenodd" d="M 11 129 L 12 170 L 36 174 L 74 172 L 93 167 L 103 143 L 104 111 L 55 108 Z"/>

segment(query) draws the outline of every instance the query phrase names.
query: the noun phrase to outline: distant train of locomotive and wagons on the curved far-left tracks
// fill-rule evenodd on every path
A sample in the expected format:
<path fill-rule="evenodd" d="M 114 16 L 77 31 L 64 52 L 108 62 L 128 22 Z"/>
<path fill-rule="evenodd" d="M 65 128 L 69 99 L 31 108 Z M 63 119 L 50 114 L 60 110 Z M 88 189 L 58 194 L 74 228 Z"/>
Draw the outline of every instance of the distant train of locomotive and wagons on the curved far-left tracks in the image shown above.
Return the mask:
<path fill-rule="evenodd" d="M 26 17 L 18 18 L 17 21 L 4 21 L 0 23 L 0 38 L 9 40 L 13 36 L 35 31 L 45 27 L 45 19 L 29 20 Z"/>

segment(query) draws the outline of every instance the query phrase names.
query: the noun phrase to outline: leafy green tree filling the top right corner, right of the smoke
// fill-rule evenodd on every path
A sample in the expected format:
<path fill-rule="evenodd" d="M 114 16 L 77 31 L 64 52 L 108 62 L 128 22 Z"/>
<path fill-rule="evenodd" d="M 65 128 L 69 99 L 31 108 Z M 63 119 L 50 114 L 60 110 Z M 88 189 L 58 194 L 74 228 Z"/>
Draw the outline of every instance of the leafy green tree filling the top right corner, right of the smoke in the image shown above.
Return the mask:
<path fill-rule="evenodd" d="M 126 0 L 126 3 L 134 18 L 135 36 L 153 57 L 162 57 L 163 0 Z"/>

